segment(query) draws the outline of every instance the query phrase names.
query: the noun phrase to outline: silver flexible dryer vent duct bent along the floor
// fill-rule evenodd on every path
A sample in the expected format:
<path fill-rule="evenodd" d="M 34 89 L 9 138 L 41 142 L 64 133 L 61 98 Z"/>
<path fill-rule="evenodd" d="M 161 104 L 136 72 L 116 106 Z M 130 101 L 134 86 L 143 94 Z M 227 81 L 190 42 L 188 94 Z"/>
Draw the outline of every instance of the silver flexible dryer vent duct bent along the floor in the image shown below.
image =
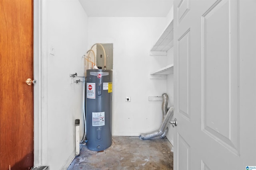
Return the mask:
<path fill-rule="evenodd" d="M 162 103 L 162 113 L 163 113 L 163 121 L 162 125 L 158 129 L 158 131 L 154 131 L 151 133 L 142 133 L 140 134 L 139 138 L 141 140 L 151 139 L 153 137 L 160 136 L 161 138 L 164 138 L 168 132 L 168 121 L 173 116 L 173 107 L 170 107 L 170 109 L 167 111 L 167 104 L 168 104 L 168 96 L 167 94 L 162 95 L 163 103 Z"/>

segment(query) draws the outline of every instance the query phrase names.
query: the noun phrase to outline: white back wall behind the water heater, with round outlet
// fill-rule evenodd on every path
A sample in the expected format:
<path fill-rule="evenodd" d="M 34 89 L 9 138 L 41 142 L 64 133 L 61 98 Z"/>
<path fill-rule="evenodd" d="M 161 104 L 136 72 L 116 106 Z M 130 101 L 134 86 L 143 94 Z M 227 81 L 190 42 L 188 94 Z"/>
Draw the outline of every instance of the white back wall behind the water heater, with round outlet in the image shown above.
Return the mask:
<path fill-rule="evenodd" d="M 88 45 L 114 44 L 113 135 L 138 136 L 160 127 L 162 102 L 148 96 L 166 92 L 166 80 L 149 79 L 166 64 L 166 57 L 149 51 L 166 26 L 166 18 L 88 18 Z M 125 102 L 125 97 L 131 102 Z"/>

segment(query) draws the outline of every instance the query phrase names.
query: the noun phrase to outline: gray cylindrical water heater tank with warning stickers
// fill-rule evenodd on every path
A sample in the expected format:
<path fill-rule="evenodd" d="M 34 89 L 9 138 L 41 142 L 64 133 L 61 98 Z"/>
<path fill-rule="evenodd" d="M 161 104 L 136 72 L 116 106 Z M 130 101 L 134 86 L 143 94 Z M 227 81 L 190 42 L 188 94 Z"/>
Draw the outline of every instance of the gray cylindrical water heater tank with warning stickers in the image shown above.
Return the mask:
<path fill-rule="evenodd" d="M 112 70 L 86 70 L 86 146 L 105 150 L 112 144 Z"/>

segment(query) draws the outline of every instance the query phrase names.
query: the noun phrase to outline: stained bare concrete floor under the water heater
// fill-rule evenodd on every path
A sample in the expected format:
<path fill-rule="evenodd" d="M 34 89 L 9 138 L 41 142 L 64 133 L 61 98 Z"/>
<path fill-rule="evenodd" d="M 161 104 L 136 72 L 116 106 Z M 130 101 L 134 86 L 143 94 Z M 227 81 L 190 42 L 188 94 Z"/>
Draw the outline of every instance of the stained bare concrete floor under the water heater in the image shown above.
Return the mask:
<path fill-rule="evenodd" d="M 68 170 L 173 170 L 172 145 L 168 139 L 114 136 L 108 149 L 80 149 Z"/>

